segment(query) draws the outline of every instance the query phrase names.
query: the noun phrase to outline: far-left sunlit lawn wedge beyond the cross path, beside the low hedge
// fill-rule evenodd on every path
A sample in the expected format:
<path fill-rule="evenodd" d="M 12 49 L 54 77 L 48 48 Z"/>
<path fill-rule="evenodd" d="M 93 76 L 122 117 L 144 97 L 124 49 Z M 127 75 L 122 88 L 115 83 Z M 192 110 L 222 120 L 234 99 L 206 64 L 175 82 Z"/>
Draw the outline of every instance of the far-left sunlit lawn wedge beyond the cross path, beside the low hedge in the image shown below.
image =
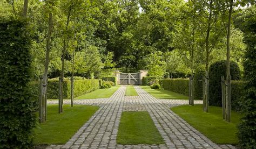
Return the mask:
<path fill-rule="evenodd" d="M 118 88 L 119 86 L 113 86 L 109 89 L 97 89 L 82 96 L 78 96 L 75 100 L 109 98 L 117 91 Z"/>

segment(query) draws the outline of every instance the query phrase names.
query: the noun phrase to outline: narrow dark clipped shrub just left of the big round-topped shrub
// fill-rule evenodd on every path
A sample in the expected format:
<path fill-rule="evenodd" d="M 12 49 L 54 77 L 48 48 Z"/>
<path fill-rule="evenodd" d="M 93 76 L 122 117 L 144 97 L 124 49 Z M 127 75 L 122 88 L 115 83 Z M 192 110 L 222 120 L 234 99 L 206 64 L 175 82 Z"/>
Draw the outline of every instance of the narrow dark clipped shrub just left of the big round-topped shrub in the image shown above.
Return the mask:
<path fill-rule="evenodd" d="M 196 70 L 194 74 L 194 100 L 203 100 L 203 76 L 205 76 L 205 70 Z"/>

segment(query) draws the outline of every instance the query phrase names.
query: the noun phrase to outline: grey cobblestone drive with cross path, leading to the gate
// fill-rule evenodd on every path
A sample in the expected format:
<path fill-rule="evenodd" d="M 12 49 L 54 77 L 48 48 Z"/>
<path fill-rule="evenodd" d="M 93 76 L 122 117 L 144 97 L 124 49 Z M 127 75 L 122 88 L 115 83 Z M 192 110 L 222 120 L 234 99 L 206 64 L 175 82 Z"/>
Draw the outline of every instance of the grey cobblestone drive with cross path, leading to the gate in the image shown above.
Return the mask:
<path fill-rule="evenodd" d="M 170 107 L 188 104 L 187 100 L 158 100 L 142 88 L 134 88 L 139 96 L 124 96 L 126 87 L 122 86 L 108 99 L 76 100 L 75 104 L 98 105 L 100 109 L 68 143 L 47 148 L 234 148 L 231 145 L 214 144 L 170 110 Z M 165 144 L 117 145 L 117 131 L 122 111 L 149 112 Z"/>

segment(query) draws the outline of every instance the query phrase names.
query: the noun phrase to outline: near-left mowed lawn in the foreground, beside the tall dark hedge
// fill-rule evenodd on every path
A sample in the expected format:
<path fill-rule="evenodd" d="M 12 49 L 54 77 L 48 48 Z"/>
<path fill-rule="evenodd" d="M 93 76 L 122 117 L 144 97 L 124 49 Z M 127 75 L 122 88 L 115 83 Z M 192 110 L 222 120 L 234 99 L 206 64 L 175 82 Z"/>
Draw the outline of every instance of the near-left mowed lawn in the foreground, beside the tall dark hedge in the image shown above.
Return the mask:
<path fill-rule="evenodd" d="M 65 144 L 99 109 L 91 105 L 64 105 L 58 113 L 58 105 L 48 105 L 47 120 L 35 128 L 34 144 Z"/>

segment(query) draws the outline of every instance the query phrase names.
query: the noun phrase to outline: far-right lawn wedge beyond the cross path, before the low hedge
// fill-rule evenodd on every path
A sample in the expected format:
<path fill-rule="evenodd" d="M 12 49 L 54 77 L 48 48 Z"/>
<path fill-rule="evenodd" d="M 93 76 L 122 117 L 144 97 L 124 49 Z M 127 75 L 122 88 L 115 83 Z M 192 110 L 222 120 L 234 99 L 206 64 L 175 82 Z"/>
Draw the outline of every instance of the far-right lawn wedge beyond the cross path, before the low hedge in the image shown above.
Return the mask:
<path fill-rule="evenodd" d="M 188 96 L 174 93 L 173 91 L 163 90 L 163 89 L 151 89 L 149 86 L 140 86 L 147 93 L 151 94 L 155 98 L 160 99 L 172 99 L 172 100 L 188 100 Z"/>

